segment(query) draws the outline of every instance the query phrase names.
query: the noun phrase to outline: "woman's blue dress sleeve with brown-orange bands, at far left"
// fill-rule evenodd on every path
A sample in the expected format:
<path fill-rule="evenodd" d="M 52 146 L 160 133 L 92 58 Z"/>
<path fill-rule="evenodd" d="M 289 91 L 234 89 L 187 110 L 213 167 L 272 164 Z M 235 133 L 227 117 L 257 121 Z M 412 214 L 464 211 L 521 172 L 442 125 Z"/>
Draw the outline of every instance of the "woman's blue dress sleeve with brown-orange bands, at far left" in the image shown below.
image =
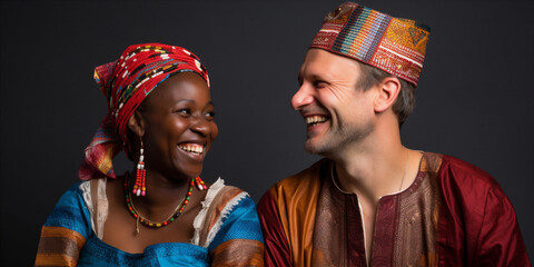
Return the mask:
<path fill-rule="evenodd" d="M 79 189 L 72 186 L 59 199 L 42 226 L 36 266 L 76 266 L 91 234 L 89 210 Z"/>

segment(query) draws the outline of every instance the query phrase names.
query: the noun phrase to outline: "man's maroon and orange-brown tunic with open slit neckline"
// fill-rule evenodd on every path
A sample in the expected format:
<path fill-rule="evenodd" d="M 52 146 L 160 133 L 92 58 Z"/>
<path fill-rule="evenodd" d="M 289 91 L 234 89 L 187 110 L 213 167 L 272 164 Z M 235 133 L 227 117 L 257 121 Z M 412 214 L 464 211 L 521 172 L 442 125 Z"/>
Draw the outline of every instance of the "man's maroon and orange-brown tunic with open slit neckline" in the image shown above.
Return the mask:
<path fill-rule="evenodd" d="M 277 182 L 258 212 L 266 266 L 366 266 L 358 197 L 322 159 Z M 514 208 L 486 172 L 425 152 L 414 182 L 378 201 L 370 266 L 531 266 Z"/>

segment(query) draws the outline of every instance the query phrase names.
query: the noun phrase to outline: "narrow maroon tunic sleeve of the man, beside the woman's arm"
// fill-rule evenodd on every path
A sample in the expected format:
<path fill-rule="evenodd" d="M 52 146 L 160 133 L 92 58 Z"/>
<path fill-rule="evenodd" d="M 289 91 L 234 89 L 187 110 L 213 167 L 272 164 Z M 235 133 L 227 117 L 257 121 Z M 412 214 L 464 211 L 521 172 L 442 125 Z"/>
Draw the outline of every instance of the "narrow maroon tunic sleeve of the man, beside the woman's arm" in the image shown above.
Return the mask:
<path fill-rule="evenodd" d="M 259 221 L 265 240 L 265 266 L 293 266 L 291 251 L 280 221 L 276 201 L 267 191 L 258 204 Z"/>

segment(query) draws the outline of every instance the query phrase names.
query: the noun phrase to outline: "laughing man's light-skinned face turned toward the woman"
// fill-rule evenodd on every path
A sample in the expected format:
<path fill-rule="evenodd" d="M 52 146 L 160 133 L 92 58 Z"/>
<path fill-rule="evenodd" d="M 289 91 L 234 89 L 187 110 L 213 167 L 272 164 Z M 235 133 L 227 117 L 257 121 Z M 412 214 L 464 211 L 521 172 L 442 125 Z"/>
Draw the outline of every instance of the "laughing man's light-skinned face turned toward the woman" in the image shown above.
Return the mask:
<path fill-rule="evenodd" d="M 360 73 L 356 60 L 308 50 L 291 99 L 307 125 L 306 151 L 332 156 L 373 134 L 376 90 L 357 88 Z"/>

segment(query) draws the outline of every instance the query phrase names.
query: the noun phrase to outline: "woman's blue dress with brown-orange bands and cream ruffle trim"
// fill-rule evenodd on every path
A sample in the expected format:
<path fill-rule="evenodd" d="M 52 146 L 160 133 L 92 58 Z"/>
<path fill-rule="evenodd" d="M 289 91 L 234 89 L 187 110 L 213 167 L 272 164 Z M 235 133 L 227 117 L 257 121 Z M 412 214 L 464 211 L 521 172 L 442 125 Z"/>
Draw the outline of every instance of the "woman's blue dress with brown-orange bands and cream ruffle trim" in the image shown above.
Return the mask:
<path fill-rule="evenodd" d="M 263 266 L 256 206 L 248 194 L 224 186 L 220 179 L 208 189 L 190 244 L 155 244 L 142 254 L 122 251 L 97 236 L 91 201 L 82 190 L 88 184 L 82 185 L 78 182 L 65 192 L 44 222 L 36 266 L 211 266 L 214 260 L 230 266 Z M 220 194 L 225 197 L 215 197 Z M 214 199 L 226 202 L 214 204 Z M 205 227 L 208 225 L 212 226 Z"/>

